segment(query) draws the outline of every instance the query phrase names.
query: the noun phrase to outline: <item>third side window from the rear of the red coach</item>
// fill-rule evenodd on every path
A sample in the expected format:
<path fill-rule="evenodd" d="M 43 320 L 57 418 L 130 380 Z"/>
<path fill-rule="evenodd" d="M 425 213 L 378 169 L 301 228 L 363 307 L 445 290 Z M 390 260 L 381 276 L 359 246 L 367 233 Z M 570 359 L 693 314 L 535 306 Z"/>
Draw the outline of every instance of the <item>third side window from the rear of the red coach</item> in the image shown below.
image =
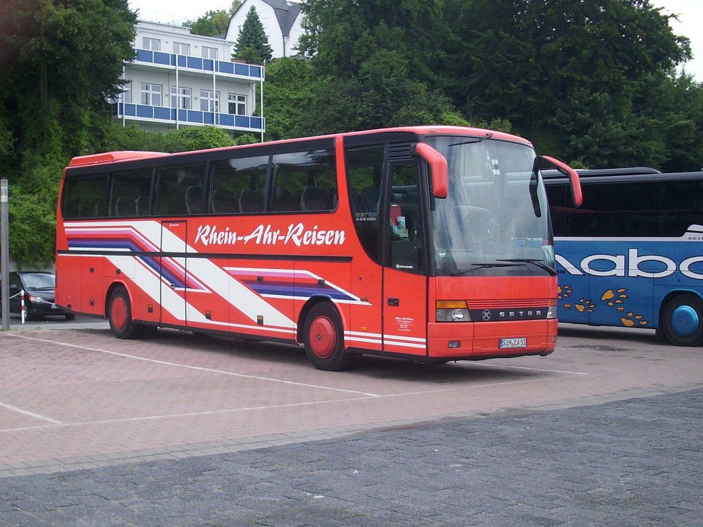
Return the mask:
<path fill-rule="evenodd" d="M 156 171 L 156 213 L 170 216 L 200 214 L 202 212 L 202 183 L 205 178 L 205 164 L 191 164 L 176 167 L 160 167 Z M 193 190 L 191 187 L 195 188 Z M 188 189 L 190 196 L 188 196 Z M 194 204 L 194 193 L 200 190 L 200 209 Z M 188 200 L 193 205 L 188 211 Z M 198 212 L 200 210 L 200 212 Z"/>

